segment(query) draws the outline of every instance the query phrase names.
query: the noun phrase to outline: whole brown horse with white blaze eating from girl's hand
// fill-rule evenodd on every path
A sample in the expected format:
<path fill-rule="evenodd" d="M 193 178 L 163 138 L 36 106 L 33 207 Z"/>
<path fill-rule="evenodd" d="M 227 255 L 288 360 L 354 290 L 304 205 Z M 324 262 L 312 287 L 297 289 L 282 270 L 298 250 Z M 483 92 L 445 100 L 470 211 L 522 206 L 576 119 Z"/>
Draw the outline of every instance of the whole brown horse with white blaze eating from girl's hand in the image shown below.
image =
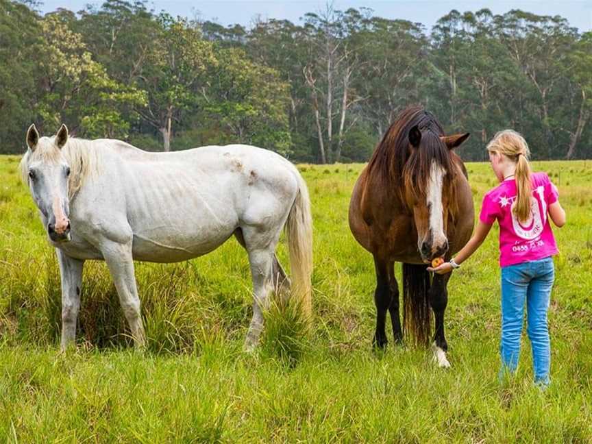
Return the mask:
<path fill-rule="evenodd" d="M 387 310 L 395 342 L 403 339 L 394 273 L 394 262 L 403 262 L 404 330 L 427 345 L 432 308 L 432 349 L 440 367 L 449 367 L 444 311 L 450 274 L 430 280 L 426 264 L 450 258 L 473 231 L 467 170 L 452 151 L 468 137 L 468 133 L 445 136 L 434 115 L 421 107 L 404 110 L 358 177 L 349 204 L 351 232 L 374 258 L 375 347 L 383 348 L 387 342 Z"/>

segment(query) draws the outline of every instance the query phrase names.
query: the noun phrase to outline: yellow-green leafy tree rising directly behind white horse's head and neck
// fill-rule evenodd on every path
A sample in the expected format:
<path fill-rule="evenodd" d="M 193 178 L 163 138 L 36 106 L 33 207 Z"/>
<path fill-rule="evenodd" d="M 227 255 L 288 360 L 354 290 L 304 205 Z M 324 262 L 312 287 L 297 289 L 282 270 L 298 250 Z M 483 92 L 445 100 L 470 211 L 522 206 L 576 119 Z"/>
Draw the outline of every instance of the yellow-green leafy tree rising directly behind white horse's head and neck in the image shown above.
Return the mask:
<path fill-rule="evenodd" d="M 129 103 L 143 105 L 145 94 L 108 75 L 88 51 L 82 35 L 71 29 L 73 20 L 69 12 L 60 11 L 47 14 L 38 23 L 36 113 L 45 125 L 67 122 L 80 135 L 125 136 L 129 122 L 121 108 Z"/>

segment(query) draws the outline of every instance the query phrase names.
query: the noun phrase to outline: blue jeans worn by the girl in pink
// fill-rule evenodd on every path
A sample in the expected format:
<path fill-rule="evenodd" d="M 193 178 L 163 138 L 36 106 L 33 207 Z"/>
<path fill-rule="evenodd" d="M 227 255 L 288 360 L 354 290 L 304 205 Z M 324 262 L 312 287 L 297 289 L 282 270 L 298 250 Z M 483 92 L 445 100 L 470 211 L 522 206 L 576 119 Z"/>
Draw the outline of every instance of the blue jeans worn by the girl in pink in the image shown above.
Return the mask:
<path fill-rule="evenodd" d="M 532 346 L 534 381 L 549 384 L 551 347 L 547 309 L 555 280 L 552 258 L 502 268 L 502 371 L 515 372 L 520 356 L 520 337 L 526 301 L 528 338 Z"/>

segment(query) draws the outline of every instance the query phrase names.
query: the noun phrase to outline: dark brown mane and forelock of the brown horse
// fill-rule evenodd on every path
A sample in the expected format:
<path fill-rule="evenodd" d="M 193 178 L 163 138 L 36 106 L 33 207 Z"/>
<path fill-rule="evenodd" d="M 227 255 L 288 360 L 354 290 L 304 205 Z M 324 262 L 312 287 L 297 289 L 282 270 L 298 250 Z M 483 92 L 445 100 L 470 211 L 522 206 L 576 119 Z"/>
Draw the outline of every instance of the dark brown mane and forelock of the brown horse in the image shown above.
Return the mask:
<path fill-rule="evenodd" d="M 421 142 L 419 147 L 412 148 L 409 132 L 416 125 L 421 132 Z M 386 130 L 374 150 L 368 164 L 369 174 L 378 175 L 384 186 L 391 189 L 393 185 L 398 185 L 402 192 L 407 187 L 416 196 L 421 196 L 425 193 L 435 160 L 446 172 L 444 186 L 448 188 L 458 156 L 442 142 L 441 136 L 444 136 L 444 130 L 434 114 L 421 106 L 406 108 Z"/>

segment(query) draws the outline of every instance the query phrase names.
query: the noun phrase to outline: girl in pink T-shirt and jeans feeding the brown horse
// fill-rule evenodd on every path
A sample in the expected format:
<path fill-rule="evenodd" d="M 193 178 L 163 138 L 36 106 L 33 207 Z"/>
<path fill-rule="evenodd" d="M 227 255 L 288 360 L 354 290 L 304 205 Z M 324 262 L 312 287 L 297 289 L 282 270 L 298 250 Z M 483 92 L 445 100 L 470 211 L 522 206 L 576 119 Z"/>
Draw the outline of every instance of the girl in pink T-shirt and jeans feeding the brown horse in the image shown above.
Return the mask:
<path fill-rule="evenodd" d="M 557 227 L 563 227 L 565 211 L 547 174 L 530 171 L 530 151 L 520 134 L 513 130 L 498 132 L 487 151 L 500 184 L 484 196 L 475 234 L 467 245 L 450 262 L 428 271 L 444 274 L 460 267 L 480 247 L 497 221 L 502 267 L 502 370 L 513 373 L 517 368 L 526 301 L 534 380 L 547 386 L 547 308 L 555 277 L 551 256 L 558 252 L 547 214 Z"/>

